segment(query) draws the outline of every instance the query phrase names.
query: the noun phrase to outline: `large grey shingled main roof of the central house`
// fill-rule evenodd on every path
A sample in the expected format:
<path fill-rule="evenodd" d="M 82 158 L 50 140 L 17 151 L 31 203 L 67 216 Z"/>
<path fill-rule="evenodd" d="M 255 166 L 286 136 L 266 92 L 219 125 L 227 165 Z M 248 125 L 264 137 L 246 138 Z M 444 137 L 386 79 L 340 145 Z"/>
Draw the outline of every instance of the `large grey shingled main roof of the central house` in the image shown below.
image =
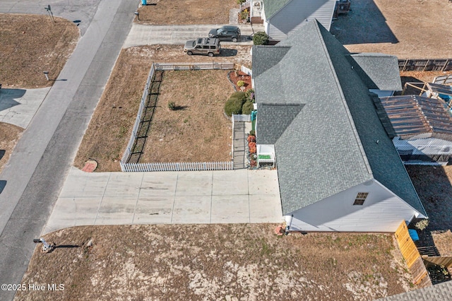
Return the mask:
<path fill-rule="evenodd" d="M 278 64 L 253 75 L 257 143 L 271 141 L 280 131 L 261 129 L 266 118 L 261 106 L 304 105 L 297 116 L 287 115 L 292 122 L 275 141 L 283 214 L 376 179 L 427 216 L 376 114 L 369 88 L 351 68 L 350 52 L 317 20 L 275 47 L 290 49 Z M 256 56 L 258 48 L 253 49 L 253 66 L 265 64 Z"/>

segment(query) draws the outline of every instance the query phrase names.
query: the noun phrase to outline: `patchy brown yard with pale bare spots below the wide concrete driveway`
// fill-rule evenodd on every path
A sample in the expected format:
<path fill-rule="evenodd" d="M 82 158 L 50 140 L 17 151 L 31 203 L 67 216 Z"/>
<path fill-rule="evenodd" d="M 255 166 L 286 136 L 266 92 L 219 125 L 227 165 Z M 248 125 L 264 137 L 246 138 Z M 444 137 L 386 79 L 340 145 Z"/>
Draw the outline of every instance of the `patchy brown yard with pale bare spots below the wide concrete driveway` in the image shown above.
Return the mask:
<path fill-rule="evenodd" d="M 374 300 L 410 289 L 391 235 L 276 236 L 275 226 L 53 232 L 44 238 L 61 247 L 35 252 L 22 283 L 64 291 L 19 291 L 16 300 Z"/>

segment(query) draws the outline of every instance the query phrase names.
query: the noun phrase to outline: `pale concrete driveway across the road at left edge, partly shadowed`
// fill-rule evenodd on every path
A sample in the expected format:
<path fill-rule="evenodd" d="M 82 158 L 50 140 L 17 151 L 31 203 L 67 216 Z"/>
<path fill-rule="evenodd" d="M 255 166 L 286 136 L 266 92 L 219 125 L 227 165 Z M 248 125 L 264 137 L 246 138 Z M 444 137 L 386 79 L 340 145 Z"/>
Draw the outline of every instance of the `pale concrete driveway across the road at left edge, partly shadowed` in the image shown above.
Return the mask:
<path fill-rule="evenodd" d="M 50 87 L 40 89 L 0 89 L 0 122 L 26 129 L 44 101 Z"/>

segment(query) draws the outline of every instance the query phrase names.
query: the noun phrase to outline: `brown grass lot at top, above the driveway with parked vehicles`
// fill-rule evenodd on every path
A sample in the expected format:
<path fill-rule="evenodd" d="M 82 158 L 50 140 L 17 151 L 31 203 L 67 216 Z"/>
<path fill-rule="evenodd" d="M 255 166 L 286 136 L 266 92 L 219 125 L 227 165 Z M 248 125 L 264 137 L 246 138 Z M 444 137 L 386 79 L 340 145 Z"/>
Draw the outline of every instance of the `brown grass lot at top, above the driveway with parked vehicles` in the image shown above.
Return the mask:
<path fill-rule="evenodd" d="M 141 1 L 140 1 L 141 2 Z M 228 24 L 231 8 L 239 8 L 237 0 L 148 0 L 138 8 L 136 23 L 153 25 Z"/>

